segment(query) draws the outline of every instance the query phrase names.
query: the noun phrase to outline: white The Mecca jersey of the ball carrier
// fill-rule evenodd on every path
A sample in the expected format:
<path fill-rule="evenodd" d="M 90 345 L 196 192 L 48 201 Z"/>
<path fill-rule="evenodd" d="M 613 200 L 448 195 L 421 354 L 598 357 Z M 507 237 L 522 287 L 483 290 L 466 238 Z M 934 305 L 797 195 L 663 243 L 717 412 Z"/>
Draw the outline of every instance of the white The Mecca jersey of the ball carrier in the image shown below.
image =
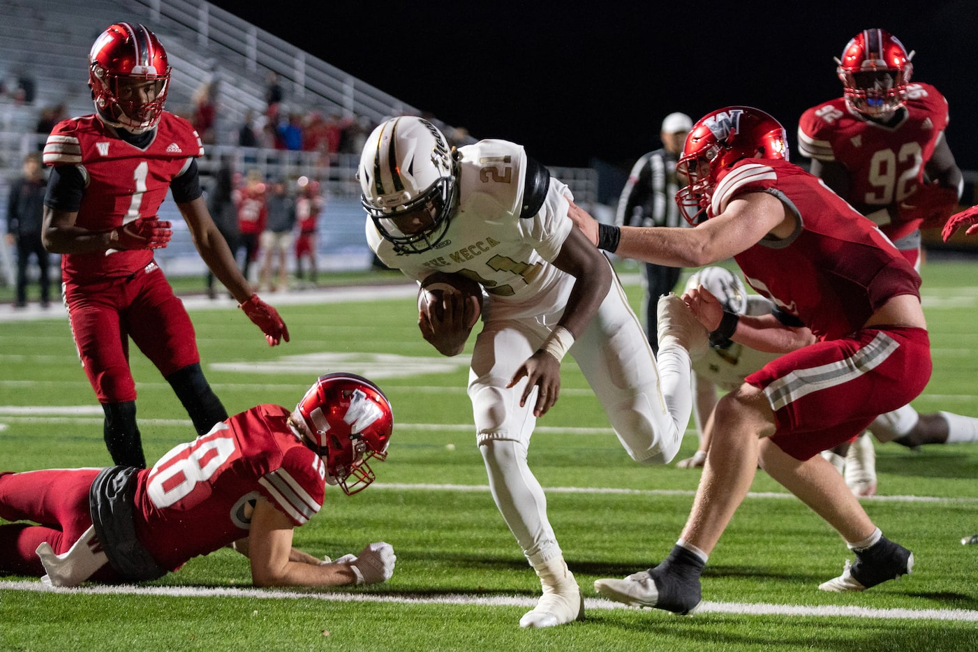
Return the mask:
<path fill-rule="evenodd" d="M 567 217 L 570 190 L 552 178 L 540 211 L 520 218 L 523 148 L 486 140 L 459 154 L 459 205 L 437 247 L 398 255 L 368 218 L 370 247 L 388 267 L 418 281 L 435 271 L 462 273 L 480 283 L 493 304 L 531 300 L 542 312 L 562 306 L 566 294 L 557 282 L 567 275 L 550 263 L 574 227 Z"/>

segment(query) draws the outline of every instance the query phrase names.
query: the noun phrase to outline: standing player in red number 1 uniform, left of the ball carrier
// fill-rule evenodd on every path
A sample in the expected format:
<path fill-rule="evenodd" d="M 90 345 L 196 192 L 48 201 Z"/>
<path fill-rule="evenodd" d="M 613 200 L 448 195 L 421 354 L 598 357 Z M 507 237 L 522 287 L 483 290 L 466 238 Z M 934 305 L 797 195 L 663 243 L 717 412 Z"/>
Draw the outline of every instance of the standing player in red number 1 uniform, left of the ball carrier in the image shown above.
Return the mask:
<path fill-rule="evenodd" d="M 154 260 L 170 223 L 156 218 L 169 190 L 207 267 L 270 345 L 289 341 L 278 312 L 255 294 L 207 212 L 190 123 L 163 110 L 170 66 L 156 35 L 119 22 L 96 39 L 89 85 L 96 112 L 60 122 L 44 147 L 53 167 L 43 241 L 64 254 L 64 299 L 82 366 L 106 413 L 117 464 L 143 467 L 129 339 L 173 387 L 198 433 L 227 412 L 200 370 L 187 311 Z"/>

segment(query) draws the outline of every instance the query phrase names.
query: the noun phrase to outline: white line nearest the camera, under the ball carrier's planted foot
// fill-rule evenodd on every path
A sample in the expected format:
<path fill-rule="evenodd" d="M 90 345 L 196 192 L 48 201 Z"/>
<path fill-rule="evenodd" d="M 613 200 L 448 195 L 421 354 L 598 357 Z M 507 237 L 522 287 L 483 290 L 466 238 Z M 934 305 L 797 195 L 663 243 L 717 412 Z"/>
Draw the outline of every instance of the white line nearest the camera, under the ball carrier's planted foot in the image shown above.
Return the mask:
<path fill-rule="evenodd" d="M 382 593 L 304 592 L 263 588 L 214 587 L 136 587 L 133 585 L 91 586 L 75 588 L 48 587 L 39 581 L 3 581 L 0 590 L 26 590 L 87 595 L 161 595 L 167 597 L 245 597 L 288 600 L 324 600 L 327 602 L 375 602 L 394 604 L 450 604 L 488 607 L 534 607 L 536 597 L 498 595 L 473 597 L 448 593 L 445 595 L 385 595 Z M 600 597 L 584 599 L 585 609 L 630 609 L 620 602 Z M 750 602 L 707 602 L 699 605 L 697 613 L 743 614 L 747 616 L 846 616 L 850 618 L 881 618 L 905 620 L 938 620 L 978 622 L 978 611 L 964 609 L 873 609 L 852 606 L 803 606 L 797 604 L 766 604 Z"/>

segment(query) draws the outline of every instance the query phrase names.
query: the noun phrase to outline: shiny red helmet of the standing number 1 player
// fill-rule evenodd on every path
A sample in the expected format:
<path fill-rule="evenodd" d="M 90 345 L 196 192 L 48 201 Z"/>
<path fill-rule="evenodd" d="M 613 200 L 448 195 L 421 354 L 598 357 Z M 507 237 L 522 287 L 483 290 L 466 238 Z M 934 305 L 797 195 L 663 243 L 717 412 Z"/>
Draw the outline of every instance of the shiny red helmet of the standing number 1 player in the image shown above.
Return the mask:
<path fill-rule="evenodd" d="M 88 85 L 102 120 L 134 134 L 159 122 L 170 82 L 166 51 L 145 26 L 116 22 L 88 54 Z"/>

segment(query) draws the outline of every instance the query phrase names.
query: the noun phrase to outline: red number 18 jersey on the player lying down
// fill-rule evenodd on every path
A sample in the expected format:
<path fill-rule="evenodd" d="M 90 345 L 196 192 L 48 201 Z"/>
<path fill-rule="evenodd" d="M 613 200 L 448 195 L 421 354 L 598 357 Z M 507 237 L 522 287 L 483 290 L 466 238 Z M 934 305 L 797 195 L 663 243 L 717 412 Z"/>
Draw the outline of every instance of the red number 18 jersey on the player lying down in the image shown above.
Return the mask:
<path fill-rule="evenodd" d="M 289 409 L 235 414 L 139 472 L 136 534 L 167 570 L 248 534 L 249 501 L 269 500 L 302 525 L 319 511 L 326 465 L 289 428 Z"/>

